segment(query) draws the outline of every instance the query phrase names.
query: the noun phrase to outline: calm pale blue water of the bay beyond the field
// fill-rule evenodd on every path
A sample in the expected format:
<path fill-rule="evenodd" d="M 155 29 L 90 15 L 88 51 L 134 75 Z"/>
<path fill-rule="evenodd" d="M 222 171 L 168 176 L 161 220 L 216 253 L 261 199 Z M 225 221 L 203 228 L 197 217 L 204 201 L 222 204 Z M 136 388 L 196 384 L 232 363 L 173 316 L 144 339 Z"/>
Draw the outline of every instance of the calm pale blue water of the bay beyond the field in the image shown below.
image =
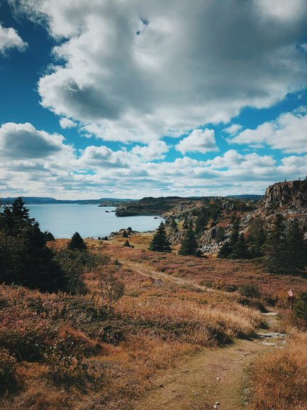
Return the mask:
<path fill-rule="evenodd" d="M 115 207 L 98 207 L 97 205 L 46 204 L 26 205 L 30 216 L 35 217 L 40 229 L 50 231 L 56 238 L 72 237 L 74 232 L 86 237 L 102 237 L 131 227 L 133 230 L 145 232 L 155 230 L 161 218 L 152 216 L 116 217 Z"/>

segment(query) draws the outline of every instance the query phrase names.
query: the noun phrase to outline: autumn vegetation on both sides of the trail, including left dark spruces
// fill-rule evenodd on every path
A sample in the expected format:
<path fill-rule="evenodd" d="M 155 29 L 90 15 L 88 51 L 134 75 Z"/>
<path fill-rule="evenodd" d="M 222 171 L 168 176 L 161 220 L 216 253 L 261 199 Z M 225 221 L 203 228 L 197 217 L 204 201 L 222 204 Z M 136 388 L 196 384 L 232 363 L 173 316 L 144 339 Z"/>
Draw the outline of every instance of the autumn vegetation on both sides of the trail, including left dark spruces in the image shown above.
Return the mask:
<path fill-rule="evenodd" d="M 22 201 L 14 206 L 0 215 L 1 409 L 133 409 L 155 374 L 184 355 L 255 337 L 273 306 L 291 341 L 251 370 L 252 409 L 296 409 L 287 407 L 290 389 L 297 409 L 306 403 L 303 276 L 269 273 L 258 259 L 200 257 L 188 221 L 177 254 L 167 239 L 180 229 L 172 219 L 160 237 L 128 229 L 107 241 L 77 232 L 54 240 Z M 294 312 L 284 304 L 288 288 L 305 292 Z"/>

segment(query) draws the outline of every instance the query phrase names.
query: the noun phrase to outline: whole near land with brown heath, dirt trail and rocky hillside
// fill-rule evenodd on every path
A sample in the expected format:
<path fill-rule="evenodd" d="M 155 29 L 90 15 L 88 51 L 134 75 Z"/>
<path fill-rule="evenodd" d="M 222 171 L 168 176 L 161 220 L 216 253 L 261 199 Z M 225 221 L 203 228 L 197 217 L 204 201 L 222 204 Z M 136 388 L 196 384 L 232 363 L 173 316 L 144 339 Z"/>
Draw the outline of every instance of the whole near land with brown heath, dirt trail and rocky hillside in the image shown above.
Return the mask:
<path fill-rule="evenodd" d="M 306 408 L 306 259 L 291 264 L 289 234 L 304 232 L 305 186 L 261 203 L 164 198 L 172 252 L 128 229 L 45 246 L 22 201 L 0 212 L 1 410 L 290 410 L 292 394 Z M 191 231 L 203 253 L 178 254 Z M 247 254 L 216 257 L 226 242 Z"/>

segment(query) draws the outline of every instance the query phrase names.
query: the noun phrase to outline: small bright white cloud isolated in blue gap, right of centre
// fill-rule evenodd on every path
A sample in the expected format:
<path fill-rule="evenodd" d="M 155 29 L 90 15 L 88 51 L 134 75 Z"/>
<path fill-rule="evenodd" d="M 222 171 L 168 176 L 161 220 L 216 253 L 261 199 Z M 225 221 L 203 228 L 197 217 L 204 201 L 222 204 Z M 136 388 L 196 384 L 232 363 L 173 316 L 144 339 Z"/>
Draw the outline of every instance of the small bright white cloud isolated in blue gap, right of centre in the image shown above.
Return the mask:
<path fill-rule="evenodd" d="M 189 136 L 182 139 L 176 146 L 177 151 L 201 152 L 218 151 L 213 129 L 194 129 Z"/>

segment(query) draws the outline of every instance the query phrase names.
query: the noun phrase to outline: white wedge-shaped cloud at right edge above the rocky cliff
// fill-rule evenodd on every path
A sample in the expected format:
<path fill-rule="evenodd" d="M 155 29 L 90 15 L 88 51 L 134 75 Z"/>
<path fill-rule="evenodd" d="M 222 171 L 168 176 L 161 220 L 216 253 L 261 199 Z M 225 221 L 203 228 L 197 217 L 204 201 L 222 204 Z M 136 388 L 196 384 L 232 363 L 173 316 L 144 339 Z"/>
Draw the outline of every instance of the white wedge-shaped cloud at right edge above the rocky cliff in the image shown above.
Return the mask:
<path fill-rule="evenodd" d="M 264 122 L 256 129 L 245 129 L 228 141 L 234 144 L 262 144 L 285 153 L 307 152 L 307 114 L 296 112 L 281 114 L 272 122 Z"/>

